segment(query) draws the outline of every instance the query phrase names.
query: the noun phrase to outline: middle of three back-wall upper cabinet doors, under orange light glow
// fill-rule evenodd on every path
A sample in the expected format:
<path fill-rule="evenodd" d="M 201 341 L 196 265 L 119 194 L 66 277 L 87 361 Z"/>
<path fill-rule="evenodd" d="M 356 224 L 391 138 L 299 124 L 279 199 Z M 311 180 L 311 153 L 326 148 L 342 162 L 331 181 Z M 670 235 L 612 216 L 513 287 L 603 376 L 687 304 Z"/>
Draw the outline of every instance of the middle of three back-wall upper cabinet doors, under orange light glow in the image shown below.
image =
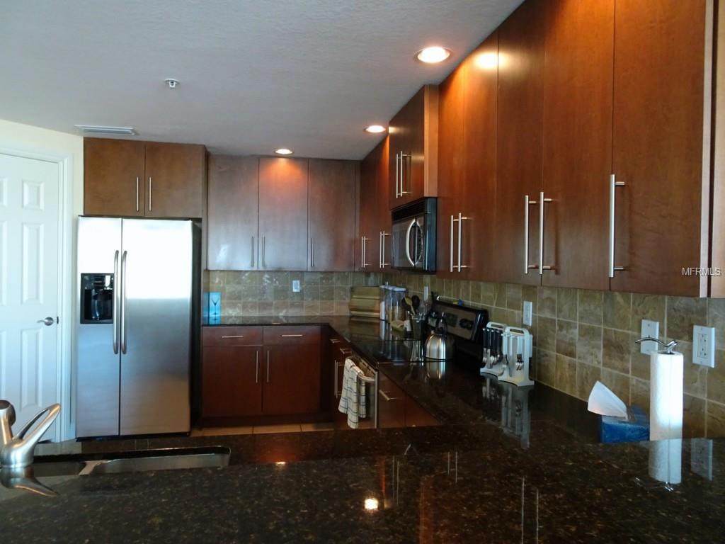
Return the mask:
<path fill-rule="evenodd" d="M 260 270 L 307 269 L 307 159 L 260 159 Z"/>

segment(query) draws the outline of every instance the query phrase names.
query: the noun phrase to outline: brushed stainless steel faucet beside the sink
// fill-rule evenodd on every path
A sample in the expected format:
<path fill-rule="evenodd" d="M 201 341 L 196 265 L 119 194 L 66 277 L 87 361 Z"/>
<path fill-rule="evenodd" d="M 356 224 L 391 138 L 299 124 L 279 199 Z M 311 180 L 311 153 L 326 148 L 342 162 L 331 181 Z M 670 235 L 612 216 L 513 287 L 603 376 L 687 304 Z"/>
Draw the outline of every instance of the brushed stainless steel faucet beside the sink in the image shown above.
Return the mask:
<path fill-rule="evenodd" d="M 36 444 L 50 428 L 60 413 L 60 405 L 50 405 L 28 421 L 17 436 L 12 435 L 12 424 L 15 422 L 15 409 L 7 400 L 0 400 L 0 466 L 7 469 L 18 469 L 33 464 Z M 43 421 L 30 431 L 38 419 L 45 415 Z M 30 431 L 30 432 L 28 432 Z"/>

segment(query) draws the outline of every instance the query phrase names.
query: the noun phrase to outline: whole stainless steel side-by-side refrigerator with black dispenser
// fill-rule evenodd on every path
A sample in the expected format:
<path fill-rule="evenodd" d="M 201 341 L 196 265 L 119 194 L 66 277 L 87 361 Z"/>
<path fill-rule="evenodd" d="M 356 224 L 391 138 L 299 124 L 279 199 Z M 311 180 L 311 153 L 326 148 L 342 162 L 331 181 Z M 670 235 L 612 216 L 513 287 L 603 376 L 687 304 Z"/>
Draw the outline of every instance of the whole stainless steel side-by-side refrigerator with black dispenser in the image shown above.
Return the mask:
<path fill-rule="evenodd" d="M 188 432 L 195 228 L 79 218 L 78 437 Z"/>

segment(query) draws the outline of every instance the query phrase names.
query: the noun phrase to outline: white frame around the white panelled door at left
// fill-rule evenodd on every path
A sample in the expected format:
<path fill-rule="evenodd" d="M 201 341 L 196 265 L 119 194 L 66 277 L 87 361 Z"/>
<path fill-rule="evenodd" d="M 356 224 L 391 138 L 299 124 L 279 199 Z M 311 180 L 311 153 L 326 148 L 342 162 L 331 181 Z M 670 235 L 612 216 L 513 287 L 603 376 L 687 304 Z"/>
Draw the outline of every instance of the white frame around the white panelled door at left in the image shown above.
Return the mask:
<path fill-rule="evenodd" d="M 46 437 L 51 440 L 67 440 L 75 437 L 72 424 L 71 389 L 71 353 L 72 331 L 75 329 L 75 312 L 72 310 L 72 279 L 74 278 L 72 255 L 72 155 L 60 154 L 46 149 L 33 149 L 29 147 L 1 147 L 0 154 L 25 159 L 53 162 L 58 167 L 58 327 L 57 347 L 57 398 L 61 405 L 56 437 Z M 17 424 L 25 424 L 18 421 Z"/>

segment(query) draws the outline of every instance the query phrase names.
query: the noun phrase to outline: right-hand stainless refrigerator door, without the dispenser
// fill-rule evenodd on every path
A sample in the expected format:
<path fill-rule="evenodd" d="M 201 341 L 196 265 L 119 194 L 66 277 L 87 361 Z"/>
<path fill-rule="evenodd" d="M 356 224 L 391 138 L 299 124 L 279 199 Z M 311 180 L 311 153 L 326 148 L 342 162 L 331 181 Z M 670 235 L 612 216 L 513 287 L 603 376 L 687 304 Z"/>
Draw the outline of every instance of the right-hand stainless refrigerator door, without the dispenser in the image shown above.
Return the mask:
<path fill-rule="evenodd" d="M 188 432 L 192 223 L 124 219 L 123 253 L 120 434 Z"/>

